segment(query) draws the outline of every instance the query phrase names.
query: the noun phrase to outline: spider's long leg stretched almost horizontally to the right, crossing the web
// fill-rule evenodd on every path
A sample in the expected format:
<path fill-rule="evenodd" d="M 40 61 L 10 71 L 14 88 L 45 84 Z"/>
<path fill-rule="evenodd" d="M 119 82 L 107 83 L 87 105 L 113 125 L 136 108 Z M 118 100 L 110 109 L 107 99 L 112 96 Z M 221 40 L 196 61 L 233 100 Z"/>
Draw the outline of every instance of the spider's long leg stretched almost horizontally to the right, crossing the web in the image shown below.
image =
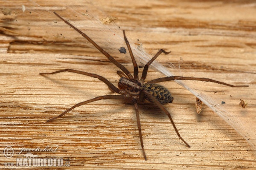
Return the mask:
<path fill-rule="evenodd" d="M 249 87 L 248 85 L 230 85 L 224 82 L 220 82 L 214 79 L 208 79 L 208 78 L 198 78 L 198 77 L 182 77 L 182 76 L 170 76 L 170 77 L 162 77 L 158 79 L 153 79 L 147 83 L 157 83 L 157 82 L 166 82 L 166 81 L 171 81 L 171 80 L 196 80 L 196 81 L 202 81 L 202 82 L 214 82 L 218 83 L 221 85 L 226 85 L 234 88 L 244 88 L 244 87 Z"/>

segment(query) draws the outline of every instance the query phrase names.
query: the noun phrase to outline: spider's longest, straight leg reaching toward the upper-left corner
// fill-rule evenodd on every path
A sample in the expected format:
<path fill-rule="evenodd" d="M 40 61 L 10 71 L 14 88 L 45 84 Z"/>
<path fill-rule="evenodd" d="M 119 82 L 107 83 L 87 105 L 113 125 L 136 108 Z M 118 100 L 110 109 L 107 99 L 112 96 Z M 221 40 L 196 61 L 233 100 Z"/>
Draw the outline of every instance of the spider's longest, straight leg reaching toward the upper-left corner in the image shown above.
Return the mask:
<path fill-rule="evenodd" d="M 121 63 L 117 62 L 116 59 L 114 59 L 110 54 L 108 54 L 108 52 L 106 52 L 105 50 L 103 50 L 98 44 L 96 44 L 96 42 L 94 42 L 92 39 L 90 39 L 90 37 L 88 37 L 86 34 L 84 34 L 82 31 L 80 31 L 78 28 L 76 28 L 75 26 L 73 26 L 71 23 L 69 23 L 67 20 L 65 20 L 63 17 L 61 17 L 59 14 L 57 14 L 56 12 L 53 12 L 58 18 L 60 18 L 61 20 L 63 20 L 67 25 L 69 25 L 70 27 L 72 27 L 74 30 L 76 30 L 79 34 L 81 34 L 84 38 L 86 38 L 92 45 L 94 45 L 102 54 L 104 54 L 106 57 L 108 57 L 108 59 L 114 64 L 116 65 L 118 68 L 120 68 L 128 77 L 129 79 L 132 79 L 132 75 L 131 73 L 127 70 L 127 68 L 125 68 L 125 66 L 123 66 Z"/>

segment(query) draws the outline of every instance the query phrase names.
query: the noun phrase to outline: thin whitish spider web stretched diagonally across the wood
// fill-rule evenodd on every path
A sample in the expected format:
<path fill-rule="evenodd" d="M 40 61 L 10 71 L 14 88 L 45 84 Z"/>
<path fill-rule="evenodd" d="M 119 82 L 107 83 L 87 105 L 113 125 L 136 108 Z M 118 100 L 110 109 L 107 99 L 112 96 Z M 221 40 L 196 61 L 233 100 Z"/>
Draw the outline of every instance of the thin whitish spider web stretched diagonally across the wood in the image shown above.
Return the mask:
<path fill-rule="evenodd" d="M 45 24 L 45 17 L 47 17 L 47 20 L 50 20 L 49 18 L 52 18 L 52 22 L 48 23 L 49 27 L 53 27 L 57 30 L 61 30 L 63 27 L 67 28 L 68 26 L 64 23 L 58 20 L 58 18 L 52 13 L 52 11 L 56 11 L 58 14 L 60 14 L 62 17 L 64 17 L 66 20 L 68 20 L 70 23 L 72 23 L 74 26 L 79 28 L 81 31 L 86 32 L 86 34 L 92 38 L 99 46 L 103 47 L 106 51 L 108 51 L 113 57 L 120 55 L 119 49 L 121 46 L 125 46 L 125 42 L 123 39 L 122 29 L 125 28 L 119 28 L 114 22 L 110 24 L 102 24 L 101 16 L 105 16 L 104 12 L 96 7 L 95 4 L 87 2 L 86 8 L 84 8 L 84 3 L 78 1 L 76 6 L 73 6 L 72 3 L 65 4 L 58 1 L 58 4 L 52 5 L 54 2 L 49 2 L 51 7 L 45 5 L 40 6 L 40 1 L 38 3 L 36 1 L 26 1 L 24 3 L 24 7 L 26 10 L 24 11 L 23 7 L 23 13 L 22 6 L 18 6 L 16 10 L 20 10 L 20 14 L 25 15 L 32 15 L 34 16 L 37 14 L 39 17 L 37 20 L 42 20 L 42 24 Z M 60 5 L 61 4 L 61 5 Z M 56 7 L 52 7 L 56 6 Z M 57 21 L 58 20 L 58 21 Z M 22 25 L 25 21 L 17 20 L 16 24 L 20 26 L 19 30 L 26 30 L 27 28 L 22 29 Z M 51 40 L 51 37 L 54 36 L 54 39 L 56 41 L 57 38 L 60 39 L 67 39 L 67 40 L 74 40 L 74 43 L 78 42 L 78 44 L 85 44 L 88 46 L 92 46 L 90 43 L 87 42 L 84 38 L 81 38 L 79 34 L 63 34 L 61 36 L 56 36 L 55 29 L 50 29 L 53 31 L 47 32 L 47 34 L 44 34 L 44 39 Z M 99 31 L 100 30 L 100 31 Z M 31 31 L 27 31 L 27 34 L 40 34 L 40 33 L 31 33 Z M 61 31 L 60 31 L 61 32 Z M 43 34 L 43 33 L 41 33 Z M 48 36 L 48 37 L 47 37 Z M 129 37 L 128 37 L 129 39 Z M 73 42 L 73 41 L 72 41 Z M 106 43 L 108 42 L 108 43 Z M 135 45 L 135 43 L 129 39 L 129 42 L 131 44 L 131 48 L 133 50 L 134 56 L 136 57 L 137 61 L 145 64 L 148 62 L 149 59 L 151 59 L 151 56 L 143 50 L 142 45 Z M 69 43 L 69 42 L 67 42 Z M 125 59 L 130 59 L 130 56 L 128 53 L 122 54 L 122 56 Z M 170 68 L 172 66 L 170 65 Z M 154 68 L 155 70 L 163 73 L 166 76 L 173 76 L 173 74 L 170 70 L 170 68 L 166 68 L 163 65 L 161 65 L 159 62 L 154 61 L 151 64 L 151 68 Z M 220 101 L 221 99 L 213 99 L 208 94 L 205 94 L 202 91 L 195 90 L 195 88 L 192 87 L 191 84 L 189 84 L 186 81 L 180 81 L 175 80 L 179 85 L 186 88 L 188 91 L 190 91 L 193 95 L 201 99 L 202 102 L 204 102 L 205 105 L 207 105 L 209 108 L 212 109 L 215 113 L 218 114 L 224 121 L 226 121 L 231 127 L 233 127 L 241 136 L 244 137 L 244 139 L 247 140 L 247 142 L 253 146 L 253 149 L 256 150 L 256 134 L 253 124 L 253 119 L 246 118 L 243 115 L 239 114 L 239 111 L 237 112 L 230 112 L 228 108 L 225 105 L 221 105 Z M 246 83 L 245 83 L 246 84 Z"/>

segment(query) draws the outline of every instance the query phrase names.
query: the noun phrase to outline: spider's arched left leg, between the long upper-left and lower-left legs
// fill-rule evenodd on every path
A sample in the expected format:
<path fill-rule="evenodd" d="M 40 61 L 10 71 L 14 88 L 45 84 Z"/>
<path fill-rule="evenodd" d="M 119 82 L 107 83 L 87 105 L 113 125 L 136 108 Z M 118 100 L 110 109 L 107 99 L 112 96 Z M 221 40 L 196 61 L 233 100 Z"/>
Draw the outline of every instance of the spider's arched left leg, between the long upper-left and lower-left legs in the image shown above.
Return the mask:
<path fill-rule="evenodd" d="M 73 69 L 64 69 L 64 70 L 59 70 L 59 71 L 55 71 L 55 72 L 52 72 L 52 73 L 39 73 L 39 74 L 40 75 L 57 74 L 57 73 L 61 73 L 61 72 L 72 72 L 72 73 L 83 74 L 83 75 L 86 75 L 86 76 L 97 78 L 97 79 L 101 80 L 102 82 L 104 82 L 106 85 L 108 85 L 108 87 L 111 89 L 111 91 L 114 91 L 114 92 L 116 92 L 118 94 L 120 92 L 119 88 L 116 88 L 116 86 L 114 86 L 105 77 L 102 77 L 102 76 L 100 76 L 98 74 L 87 73 L 87 72 L 84 72 L 84 71 L 78 71 L 78 70 L 73 70 Z"/>

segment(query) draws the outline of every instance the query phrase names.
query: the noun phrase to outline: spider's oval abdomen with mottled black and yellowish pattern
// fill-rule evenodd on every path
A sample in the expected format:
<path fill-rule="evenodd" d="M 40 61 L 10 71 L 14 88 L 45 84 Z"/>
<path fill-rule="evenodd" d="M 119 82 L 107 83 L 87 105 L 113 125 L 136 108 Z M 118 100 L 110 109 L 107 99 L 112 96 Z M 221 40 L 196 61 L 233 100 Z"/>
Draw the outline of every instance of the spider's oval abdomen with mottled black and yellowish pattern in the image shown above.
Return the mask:
<path fill-rule="evenodd" d="M 148 91 L 161 104 L 172 103 L 173 97 L 169 90 L 162 85 L 145 83 L 141 87 L 142 90 Z M 148 96 L 144 96 L 149 102 L 152 102 Z"/>

